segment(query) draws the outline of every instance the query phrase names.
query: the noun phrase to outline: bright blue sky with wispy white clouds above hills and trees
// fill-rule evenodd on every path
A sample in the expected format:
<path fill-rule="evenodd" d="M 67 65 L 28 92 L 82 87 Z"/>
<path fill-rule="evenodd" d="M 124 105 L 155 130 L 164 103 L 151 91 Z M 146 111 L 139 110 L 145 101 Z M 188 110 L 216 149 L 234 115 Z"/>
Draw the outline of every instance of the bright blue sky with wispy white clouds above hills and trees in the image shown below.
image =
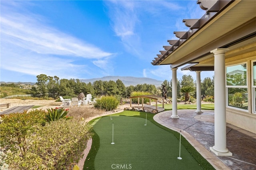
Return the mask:
<path fill-rule="evenodd" d="M 172 79 L 170 65 L 151 64 L 183 19 L 201 18 L 196 0 L 0 1 L 0 81 L 36 82 L 104 76 Z M 177 78 L 196 73 L 177 71 Z M 201 79 L 214 75 L 201 73 Z"/>

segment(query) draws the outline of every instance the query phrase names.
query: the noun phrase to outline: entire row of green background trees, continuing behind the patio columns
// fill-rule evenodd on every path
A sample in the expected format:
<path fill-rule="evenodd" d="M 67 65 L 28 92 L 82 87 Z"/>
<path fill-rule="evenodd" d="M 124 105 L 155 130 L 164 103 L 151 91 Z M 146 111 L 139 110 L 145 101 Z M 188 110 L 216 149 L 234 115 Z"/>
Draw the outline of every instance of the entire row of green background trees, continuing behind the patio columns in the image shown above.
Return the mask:
<path fill-rule="evenodd" d="M 29 91 L 29 94 L 33 94 L 34 97 L 52 97 L 57 99 L 59 96 L 76 97 L 80 93 L 84 93 L 85 95 L 90 93 L 93 97 L 113 95 L 128 98 L 134 91 L 148 92 L 152 95 L 162 96 L 163 85 L 166 86 L 167 97 L 172 97 L 172 80 L 164 80 L 161 87 L 146 83 L 126 87 L 120 79 L 116 81 L 98 80 L 92 83 L 84 83 L 79 79 L 60 79 L 57 76 L 51 77 L 45 74 L 37 75 L 36 78 L 36 85 Z M 17 87 L 14 83 L 2 83 L 1 86 Z M 178 99 L 185 95 L 182 93 L 182 87 L 193 87 L 194 91 L 190 92 L 190 95 L 196 97 L 196 81 L 194 81 L 191 75 L 183 75 L 180 80 L 177 79 Z M 214 96 L 214 79 L 206 77 L 201 81 L 201 94 Z"/>

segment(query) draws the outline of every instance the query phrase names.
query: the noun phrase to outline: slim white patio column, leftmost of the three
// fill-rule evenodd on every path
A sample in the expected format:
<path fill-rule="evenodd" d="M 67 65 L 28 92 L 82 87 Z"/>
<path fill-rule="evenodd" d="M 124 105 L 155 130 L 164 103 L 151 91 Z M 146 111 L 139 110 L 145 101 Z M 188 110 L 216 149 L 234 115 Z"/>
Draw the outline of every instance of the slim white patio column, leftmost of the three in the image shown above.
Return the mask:
<path fill-rule="evenodd" d="M 172 68 L 172 119 L 180 118 L 177 115 L 177 69 Z"/>

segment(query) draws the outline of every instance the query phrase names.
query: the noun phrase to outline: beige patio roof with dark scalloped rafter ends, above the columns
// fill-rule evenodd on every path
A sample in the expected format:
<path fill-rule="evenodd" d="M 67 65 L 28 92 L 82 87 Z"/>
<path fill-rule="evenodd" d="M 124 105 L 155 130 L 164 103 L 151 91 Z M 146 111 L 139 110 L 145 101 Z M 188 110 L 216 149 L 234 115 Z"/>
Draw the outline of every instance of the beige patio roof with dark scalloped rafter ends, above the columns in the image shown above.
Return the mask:
<path fill-rule="evenodd" d="M 190 28 L 188 32 L 174 32 L 179 40 L 168 40 L 170 45 L 163 46 L 163 51 L 160 51 L 161 54 L 157 55 L 152 65 L 171 65 L 174 68 L 194 63 L 182 69 L 213 70 L 212 49 L 236 49 L 256 42 L 256 1 L 221 0 L 205 3 L 203 0 L 198 1 L 198 4 L 206 10 L 206 14 L 199 20 L 183 20 Z M 255 50 L 255 46 L 248 50 Z"/>

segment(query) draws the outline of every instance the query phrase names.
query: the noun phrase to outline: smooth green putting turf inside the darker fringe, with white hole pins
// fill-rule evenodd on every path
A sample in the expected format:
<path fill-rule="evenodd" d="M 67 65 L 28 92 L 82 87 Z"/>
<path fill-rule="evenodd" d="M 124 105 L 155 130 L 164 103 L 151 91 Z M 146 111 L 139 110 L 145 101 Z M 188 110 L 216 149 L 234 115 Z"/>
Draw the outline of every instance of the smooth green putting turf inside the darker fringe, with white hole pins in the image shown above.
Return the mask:
<path fill-rule="evenodd" d="M 146 113 L 144 113 L 146 115 Z M 92 124 L 100 145 L 94 158 L 96 170 L 176 170 L 202 169 L 191 154 L 181 146 L 174 134 L 139 117 L 110 116 Z M 114 125 L 114 143 L 112 127 Z M 97 140 L 97 139 L 96 139 Z M 98 142 L 98 141 L 93 141 Z M 94 149 L 94 148 L 92 148 Z M 96 148 L 95 148 L 96 149 Z"/>

